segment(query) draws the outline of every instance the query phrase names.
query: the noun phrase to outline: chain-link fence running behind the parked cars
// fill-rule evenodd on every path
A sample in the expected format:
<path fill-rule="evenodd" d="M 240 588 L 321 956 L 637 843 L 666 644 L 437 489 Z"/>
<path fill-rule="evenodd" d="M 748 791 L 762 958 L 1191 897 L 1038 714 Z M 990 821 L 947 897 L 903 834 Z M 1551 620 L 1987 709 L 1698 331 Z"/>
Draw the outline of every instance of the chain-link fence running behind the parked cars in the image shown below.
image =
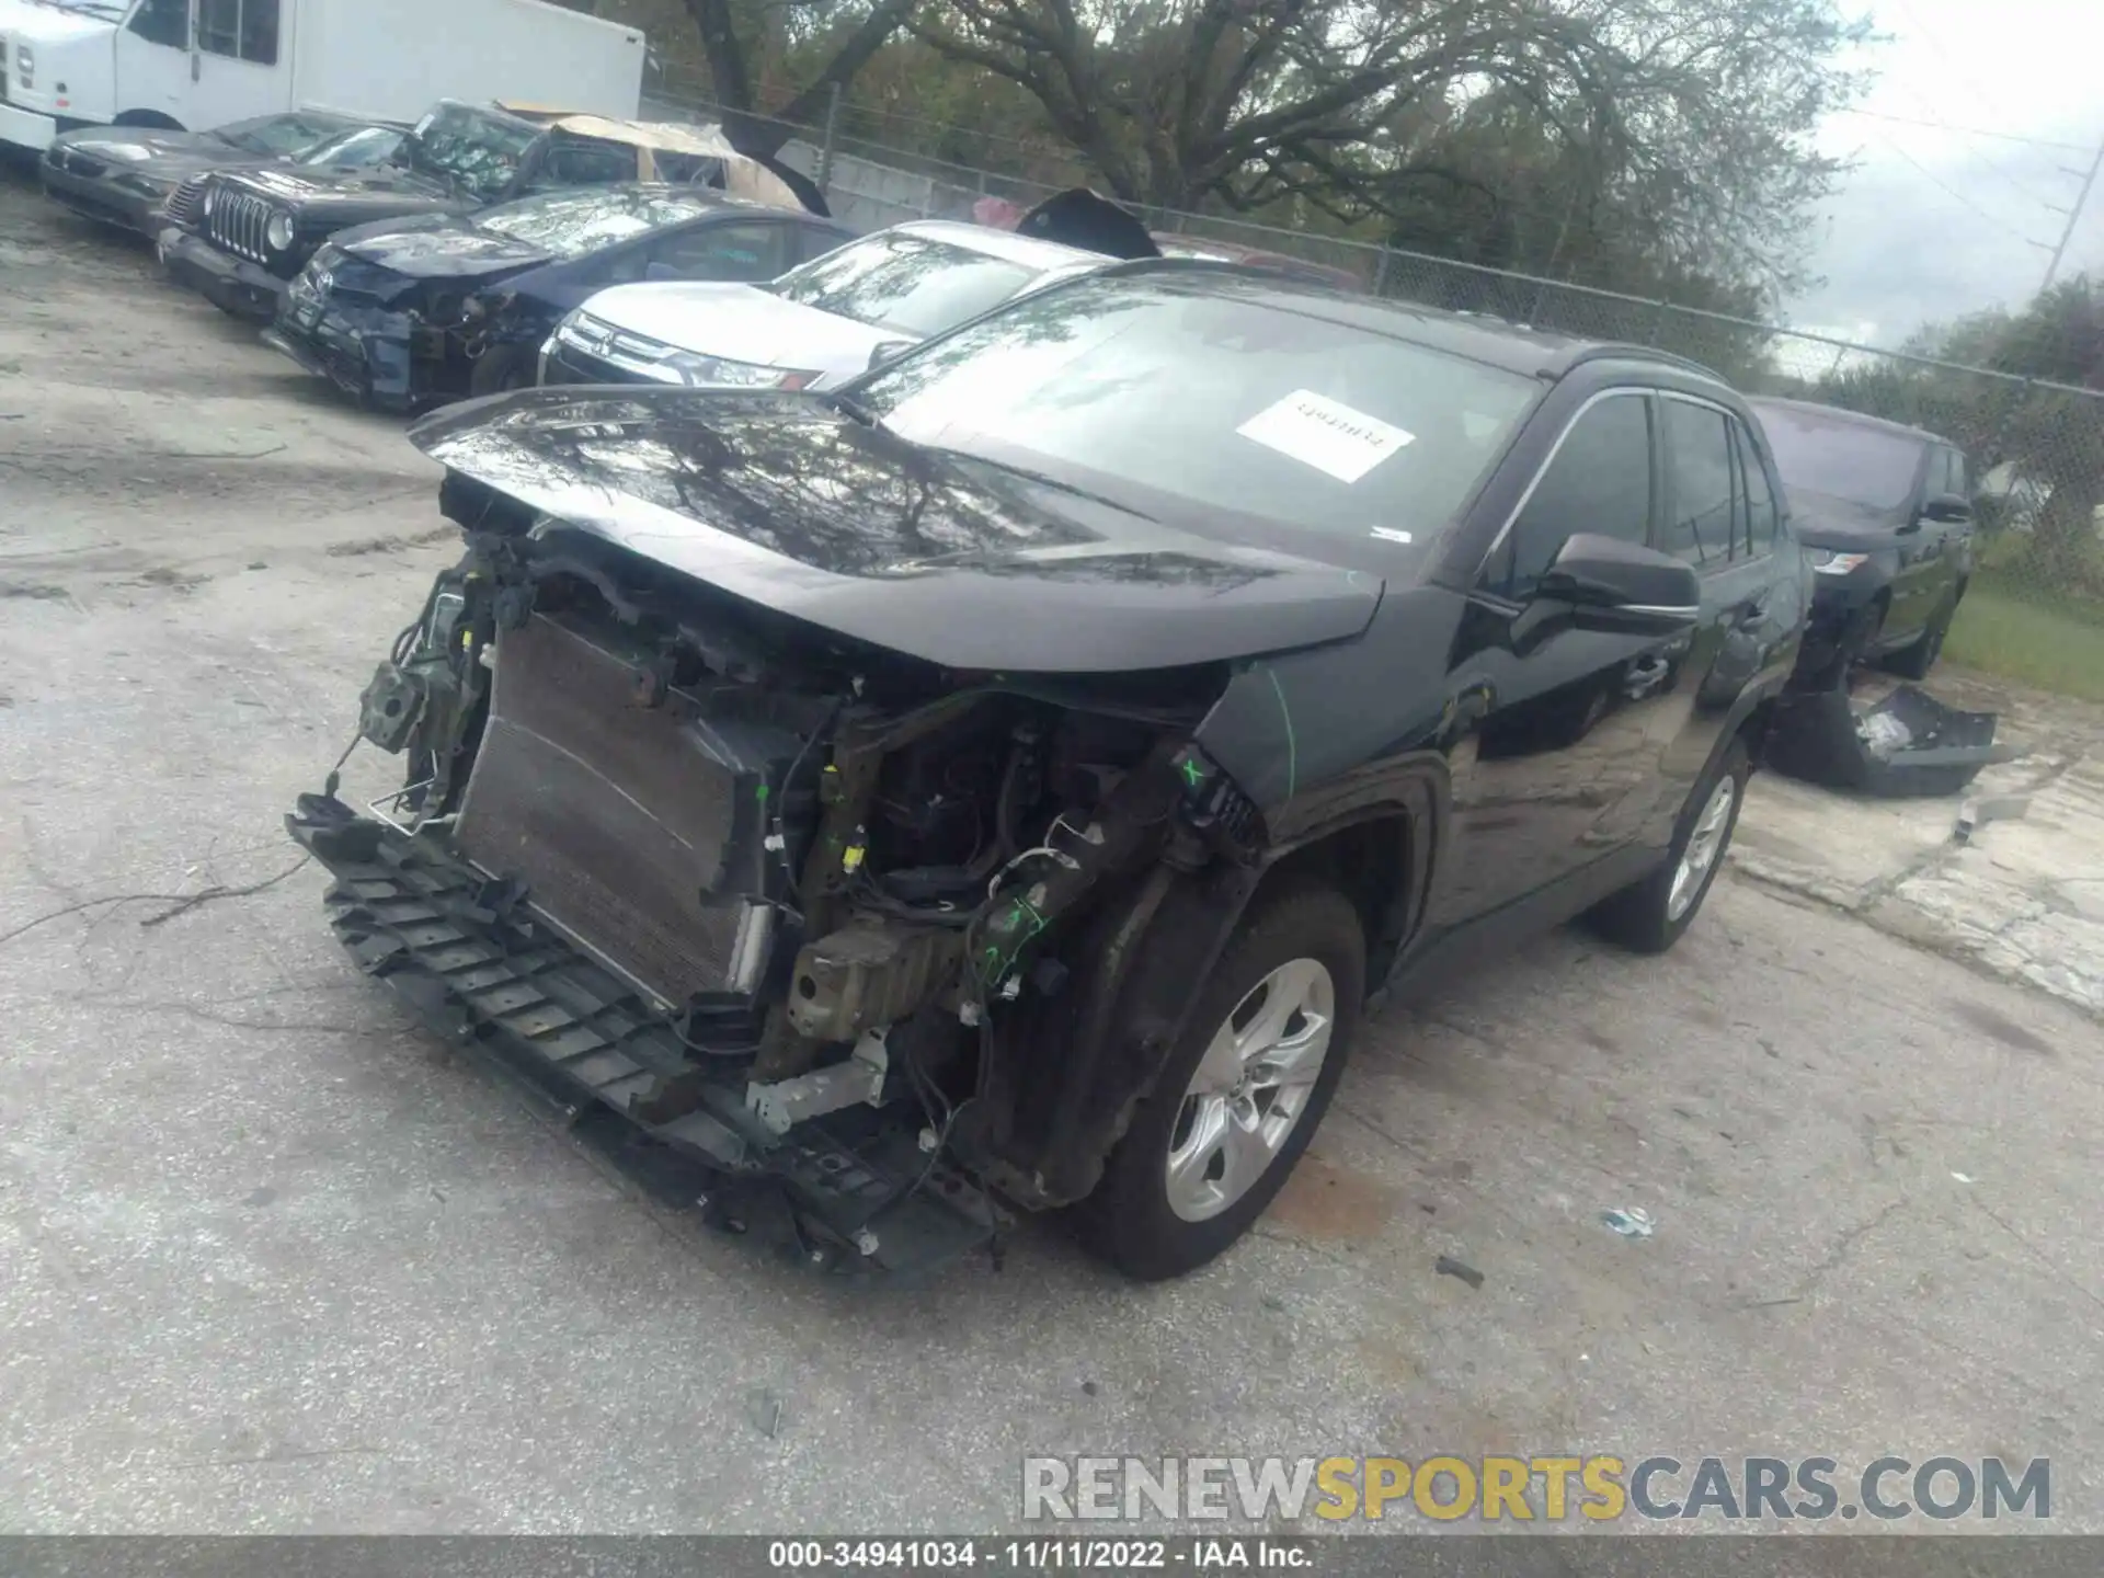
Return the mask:
<path fill-rule="evenodd" d="M 713 120 L 699 99 L 661 118 Z M 833 213 L 879 229 L 907 219 L 1012 223 L 1088 173 L 1056 154 L 1004 158 L 1027 175 L 951 164 L 839 126 L 787 126 L 783 158 L 821 179 Z M 1938 362 L 1614 290 L 1509 274 L 1342 236 L 1222 215 L 1151 213 L 1159 236 L 1225 242 L 1340 269 L 1361 288 L 1542 330 L 1650 345 L 1755 396 L 1788 396 L 1923 427 L 1965 450 L 1976 570 L 1946 652 L 2014 680 L 2104 701 L 2104 391 Z"/>

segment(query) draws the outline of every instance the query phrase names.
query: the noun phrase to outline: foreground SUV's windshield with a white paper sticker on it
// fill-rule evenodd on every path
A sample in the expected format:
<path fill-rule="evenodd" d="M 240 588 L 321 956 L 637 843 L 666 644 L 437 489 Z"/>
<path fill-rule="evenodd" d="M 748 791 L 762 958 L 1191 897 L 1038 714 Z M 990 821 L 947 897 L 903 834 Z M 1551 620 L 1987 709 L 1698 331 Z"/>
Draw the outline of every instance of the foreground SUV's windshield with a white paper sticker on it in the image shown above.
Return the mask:
<path fill-rule="evenodd" d="M 1302 311 L 1258 284 L 1168 276 L 1033 292 L 854 389 L 903 438 L 1142 513 L 1185 501 L 1197 509 L 1174 513 L 1418 547 L 1475 492 L 1536 393 L 1517 372 Z"/>

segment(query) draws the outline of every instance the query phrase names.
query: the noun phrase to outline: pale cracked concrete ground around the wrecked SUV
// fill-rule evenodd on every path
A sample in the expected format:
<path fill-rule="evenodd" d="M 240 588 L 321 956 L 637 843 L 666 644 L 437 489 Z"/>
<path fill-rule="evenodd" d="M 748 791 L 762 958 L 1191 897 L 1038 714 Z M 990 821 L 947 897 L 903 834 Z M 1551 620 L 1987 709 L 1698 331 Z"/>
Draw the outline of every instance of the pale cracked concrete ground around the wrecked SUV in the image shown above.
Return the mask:
<path fill-rule="evenodd" d="M 1763 787 L 1763 882 L 1671 957 L 1561 932 L 1391 1010 L 1197 1277 L 1029 1225 L 844 1292 L 414 1031 L 313 871 L 118 901 L 292 865 L 431 480 L 0 181 L 0 1528 L 974 1530 L 1029 1452 L 1511 1450 L 2051 1456 L 2104 1530 L 2098 1027 L 1866 924 L 1965 865 L 1948 804 L 1807 896 L 1862 835 Z"/>

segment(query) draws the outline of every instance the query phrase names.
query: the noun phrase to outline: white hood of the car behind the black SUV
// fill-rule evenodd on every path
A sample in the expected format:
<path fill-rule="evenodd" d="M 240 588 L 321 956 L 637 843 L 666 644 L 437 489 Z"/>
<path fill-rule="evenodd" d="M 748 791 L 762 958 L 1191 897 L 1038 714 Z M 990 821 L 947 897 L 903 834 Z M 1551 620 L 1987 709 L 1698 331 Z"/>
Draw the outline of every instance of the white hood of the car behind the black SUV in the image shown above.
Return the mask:
<path fill-rule="evenodd" d="M 585 311 L 682 351 L 825 372 L 835 383 L 863 372 L 877 345 L 905 339 L 751 284 L 616 284 L 591 297 Z"/>

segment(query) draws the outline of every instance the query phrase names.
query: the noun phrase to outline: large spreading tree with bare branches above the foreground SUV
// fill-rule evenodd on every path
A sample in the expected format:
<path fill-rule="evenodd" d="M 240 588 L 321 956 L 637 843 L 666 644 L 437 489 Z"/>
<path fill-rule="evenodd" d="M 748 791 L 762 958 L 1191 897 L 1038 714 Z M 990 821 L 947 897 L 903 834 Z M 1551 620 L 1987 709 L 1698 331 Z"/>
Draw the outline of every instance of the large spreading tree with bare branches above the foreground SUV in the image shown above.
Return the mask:
<path fill-rule="evenodd" d="M 1511 267 L 1797 282 L 1805 141 L 1864 38 L 1833 0 L 930 0 L 1111 191 L 1300 202 Z"/>

